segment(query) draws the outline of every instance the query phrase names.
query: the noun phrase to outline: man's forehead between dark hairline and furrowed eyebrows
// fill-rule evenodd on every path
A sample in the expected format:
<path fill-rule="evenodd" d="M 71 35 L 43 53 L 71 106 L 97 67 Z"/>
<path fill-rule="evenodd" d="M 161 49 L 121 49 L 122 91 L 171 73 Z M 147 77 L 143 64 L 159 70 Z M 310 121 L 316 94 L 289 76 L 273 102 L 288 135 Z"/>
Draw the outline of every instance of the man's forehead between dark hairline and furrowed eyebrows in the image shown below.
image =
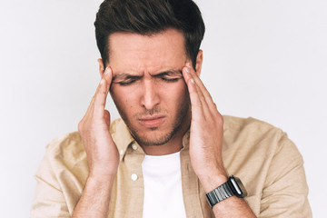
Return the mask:
<path fill-rule="evenodd" d="M 109 65 L 114 74 L 154 73 L 183 67 L 185 61 L 183 34 L 174 29 L 154 35 L 114 33 L 109 36 Z"/>

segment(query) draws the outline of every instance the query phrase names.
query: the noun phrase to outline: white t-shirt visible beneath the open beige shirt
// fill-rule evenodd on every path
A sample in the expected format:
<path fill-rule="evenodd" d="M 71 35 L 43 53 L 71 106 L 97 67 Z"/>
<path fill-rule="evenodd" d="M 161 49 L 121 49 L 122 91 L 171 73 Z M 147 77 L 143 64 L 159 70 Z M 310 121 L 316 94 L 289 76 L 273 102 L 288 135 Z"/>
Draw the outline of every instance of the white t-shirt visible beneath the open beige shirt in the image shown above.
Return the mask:
<path fill-rule="evenodd" d="M 183 204 L 180 153 L 145 155 L 144 218 L 186 217 Z"/>

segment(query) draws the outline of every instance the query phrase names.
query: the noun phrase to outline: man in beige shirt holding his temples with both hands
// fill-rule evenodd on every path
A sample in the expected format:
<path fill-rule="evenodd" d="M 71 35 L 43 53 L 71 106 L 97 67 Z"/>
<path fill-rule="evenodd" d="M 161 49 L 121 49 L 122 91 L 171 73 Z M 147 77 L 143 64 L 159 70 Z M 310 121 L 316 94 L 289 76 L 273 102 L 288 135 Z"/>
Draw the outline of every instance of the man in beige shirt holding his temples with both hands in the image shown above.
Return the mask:
<path fill-rule="evenodd" d="M 32 217 L 312 216 L 286 134 L 219 114 L 192 0 L 104 1 L 94 25 L 102 79 L 79 133 L 48 145 Z"/>

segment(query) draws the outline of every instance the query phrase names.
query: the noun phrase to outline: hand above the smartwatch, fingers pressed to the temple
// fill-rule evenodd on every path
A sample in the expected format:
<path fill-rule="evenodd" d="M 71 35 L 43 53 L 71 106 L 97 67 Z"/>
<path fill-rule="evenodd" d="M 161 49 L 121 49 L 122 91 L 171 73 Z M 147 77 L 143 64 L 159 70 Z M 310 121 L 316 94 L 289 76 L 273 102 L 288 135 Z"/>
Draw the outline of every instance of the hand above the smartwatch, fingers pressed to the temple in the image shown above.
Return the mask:
<path fill-rule="evenodd" d="M 227 181 L 223 168 L 223 116 L 190 63 L 183 67 L 192 105 L 190 157 L 194 173 L 209 192 Z"/>

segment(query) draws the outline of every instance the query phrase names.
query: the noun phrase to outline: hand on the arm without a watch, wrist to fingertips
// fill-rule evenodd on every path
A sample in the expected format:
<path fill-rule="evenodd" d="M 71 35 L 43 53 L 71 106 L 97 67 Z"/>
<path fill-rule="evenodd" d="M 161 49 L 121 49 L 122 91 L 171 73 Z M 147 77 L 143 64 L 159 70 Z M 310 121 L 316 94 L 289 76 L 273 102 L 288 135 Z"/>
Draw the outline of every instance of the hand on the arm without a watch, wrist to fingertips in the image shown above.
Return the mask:
<path fill-rule="evenodd" d="M 112 78 L 113 72 L 107 67 L 84 118 L 78 124 L 89 165 L 89 177 L 113 177 L 118 169 L 119 154 L 109 132 L 110 114 L 104 109 Z"/>

